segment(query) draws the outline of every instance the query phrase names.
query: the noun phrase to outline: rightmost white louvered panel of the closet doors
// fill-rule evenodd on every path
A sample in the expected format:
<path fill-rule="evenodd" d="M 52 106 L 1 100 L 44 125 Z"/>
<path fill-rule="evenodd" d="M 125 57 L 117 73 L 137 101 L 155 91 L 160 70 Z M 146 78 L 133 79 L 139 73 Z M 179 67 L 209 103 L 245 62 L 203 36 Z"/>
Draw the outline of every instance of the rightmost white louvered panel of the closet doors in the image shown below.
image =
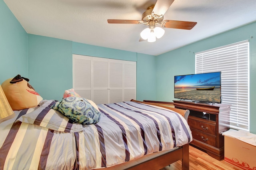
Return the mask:
<path fill-rule="evenodd" d="M 136 100 L 136 62 L 124 61 L 124 101 Z"/>

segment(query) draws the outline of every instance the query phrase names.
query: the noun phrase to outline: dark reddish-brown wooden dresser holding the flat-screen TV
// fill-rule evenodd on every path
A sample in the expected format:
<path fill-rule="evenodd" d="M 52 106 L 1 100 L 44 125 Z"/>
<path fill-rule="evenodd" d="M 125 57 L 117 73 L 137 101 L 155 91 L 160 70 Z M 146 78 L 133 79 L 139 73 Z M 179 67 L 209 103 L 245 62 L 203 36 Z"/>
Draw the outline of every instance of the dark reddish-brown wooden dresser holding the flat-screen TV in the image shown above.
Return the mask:
<path fill-rule="evenodd" d="M 224 136 L 229 129 L 230 105 L 175 100 L 174 107 L 188 109 L 188 125 L 192 131 L 190 144 L 218 160 L 224 158 Z M 209 116 L 209 117 L 208 117 Z"/>

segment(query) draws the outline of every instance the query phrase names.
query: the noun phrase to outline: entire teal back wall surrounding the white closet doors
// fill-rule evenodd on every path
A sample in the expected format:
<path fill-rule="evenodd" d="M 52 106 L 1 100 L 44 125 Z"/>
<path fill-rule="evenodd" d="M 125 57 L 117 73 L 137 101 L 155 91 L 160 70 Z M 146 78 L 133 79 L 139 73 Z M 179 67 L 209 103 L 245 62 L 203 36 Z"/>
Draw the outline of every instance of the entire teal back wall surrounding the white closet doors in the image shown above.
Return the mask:
<path fill-rule="evenodd" d="M 61 100 L 64 91 L 72 88 L 72 53 L 128 61 L 138 59 L 137 100 L 156 99 L 155 56 L 28 34 L 28 77 L 44 99 Z"/>

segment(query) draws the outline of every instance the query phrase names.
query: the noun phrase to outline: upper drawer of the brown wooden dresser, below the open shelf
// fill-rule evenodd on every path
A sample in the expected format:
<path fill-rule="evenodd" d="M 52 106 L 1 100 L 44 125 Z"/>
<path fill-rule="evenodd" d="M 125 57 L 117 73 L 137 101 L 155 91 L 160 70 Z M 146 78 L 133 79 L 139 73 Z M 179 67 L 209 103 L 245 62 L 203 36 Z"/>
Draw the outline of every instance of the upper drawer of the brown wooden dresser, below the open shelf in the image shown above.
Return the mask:
<path fill-rule="evenodd" d="M 216 125 L 197 121 L 194 119 L 188 119 L 188 125 L 190 126 L 190 128 L 194 128 L 196 130 L 200 130 L 202 132 L 212 134 L 214 136 L 216 135 Z"/>

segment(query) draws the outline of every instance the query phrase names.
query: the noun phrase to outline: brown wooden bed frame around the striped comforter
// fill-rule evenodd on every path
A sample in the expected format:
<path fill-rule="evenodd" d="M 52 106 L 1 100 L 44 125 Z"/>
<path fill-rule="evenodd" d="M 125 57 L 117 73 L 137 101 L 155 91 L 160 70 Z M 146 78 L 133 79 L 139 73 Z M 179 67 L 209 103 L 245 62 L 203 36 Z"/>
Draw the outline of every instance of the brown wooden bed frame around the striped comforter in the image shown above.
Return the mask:
<path fill-rule="evenodd" d="M 186 120 L 189 115 L 188 110 L 182 110 L 182 109 L 176 109 L 173 107 L 168 107 L 164 103 L 159 103 L 159 102 L 154 102 L 154 101 L 142 102 L 142 101 L 136 101 L 133 99 L 131 101 L 150 104 L 150 105 L 156 105 L 159 107 L 164 107 L 164 108 L 176 111 L 177 113 L 181 114 Z M 182 160 L 182 170 L 189 170 L 189 144 L 180 146 L 178 149 L 168 152 L 166 154 L 160 155 L 156 158 L 152 158 L 152 159 L 146 160 L 145 162 L 142 162 L 140 164 L 136 164 L 135 166 L 128 168 L 128 170 L 138 170 L 138 169 L 145 169 L 145 168 L 147 170 L 159 170 L 159 169 L 164 168 L 165 166 L 168 166 L 178 160 Z M 113 168 L 115 169 L 116 166 L 113 166 L 110 168 L 104 168 L 104 169 L 110 170 Z"/>

